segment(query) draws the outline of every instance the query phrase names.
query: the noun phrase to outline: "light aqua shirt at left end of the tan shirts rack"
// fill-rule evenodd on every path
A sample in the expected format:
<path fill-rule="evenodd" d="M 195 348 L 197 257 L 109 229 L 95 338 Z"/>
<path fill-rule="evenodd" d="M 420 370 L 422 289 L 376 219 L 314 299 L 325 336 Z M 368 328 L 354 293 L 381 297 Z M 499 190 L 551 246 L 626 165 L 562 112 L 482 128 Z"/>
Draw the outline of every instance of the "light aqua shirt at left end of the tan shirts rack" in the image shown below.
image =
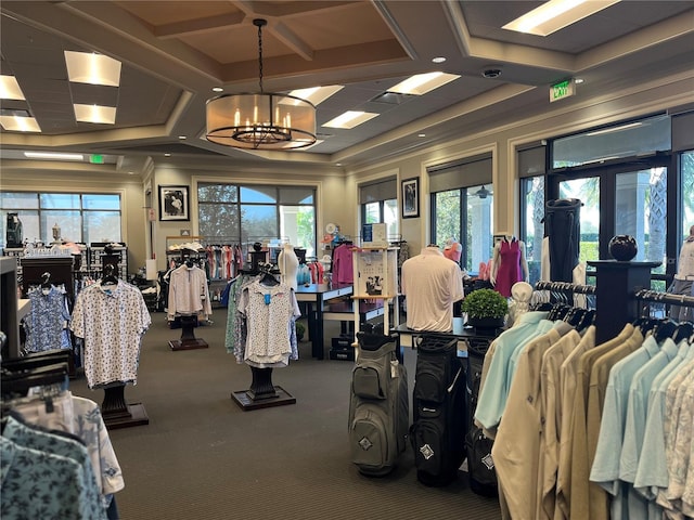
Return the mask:
<path fill-rule="evenodd" d="M 493 356 L 487 370 L 485 384 L 479 391 L 475 419 L 485 428 L 494 428 L 501 420 L 506 405 L 511 381 L 507 379 L 507 362 L 514 349 L 537 335 L 538 324 L 547 312 L 527 312 L 507 330 L 494 340 Z M 550 322 L 551 323 L 551 322 Z"/>

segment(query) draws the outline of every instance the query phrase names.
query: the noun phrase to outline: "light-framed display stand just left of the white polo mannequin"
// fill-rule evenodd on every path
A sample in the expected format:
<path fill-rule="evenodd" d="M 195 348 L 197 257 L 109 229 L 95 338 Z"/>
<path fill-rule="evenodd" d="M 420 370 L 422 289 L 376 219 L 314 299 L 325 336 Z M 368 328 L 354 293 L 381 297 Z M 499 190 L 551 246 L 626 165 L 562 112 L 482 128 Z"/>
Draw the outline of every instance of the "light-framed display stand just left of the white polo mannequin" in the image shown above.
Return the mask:
<path fill-rule="evenodd" d="M 386 335 L 400 322 L 398 249 L 397 247 L 356 248 L 351 257 L 355 273 L 355 289 L 351 298 L 357 301 L 383 300 L 383 330 Z M 390 325 L 390 303 L 394 310 L 393 326 Z M 360 328 L 360 307 L 354 306 L 355 338 Z"/>

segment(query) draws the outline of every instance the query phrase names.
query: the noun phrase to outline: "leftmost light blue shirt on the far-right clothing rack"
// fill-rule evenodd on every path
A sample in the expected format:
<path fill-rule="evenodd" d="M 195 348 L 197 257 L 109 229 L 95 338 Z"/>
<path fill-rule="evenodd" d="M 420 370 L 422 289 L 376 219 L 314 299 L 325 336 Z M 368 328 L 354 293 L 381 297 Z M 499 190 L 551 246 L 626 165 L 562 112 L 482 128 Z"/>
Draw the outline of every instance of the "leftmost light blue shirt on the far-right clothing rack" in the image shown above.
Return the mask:
<path fill-rule="evenodd" d="M 622 485 L 619 481 L 619 457 L 615 456 L 615 454 L 621 453 L 629 388 L 637 370 L 659 350 L 655 338 L 650 336 L 644 339 L 640 349 L 619 360 L 609 370 L 590 480 L 614 496 L 611 515 L 613 520 L 628 520 L 629 518 L 626 508 L 626 494 L 622 494 Z"/>

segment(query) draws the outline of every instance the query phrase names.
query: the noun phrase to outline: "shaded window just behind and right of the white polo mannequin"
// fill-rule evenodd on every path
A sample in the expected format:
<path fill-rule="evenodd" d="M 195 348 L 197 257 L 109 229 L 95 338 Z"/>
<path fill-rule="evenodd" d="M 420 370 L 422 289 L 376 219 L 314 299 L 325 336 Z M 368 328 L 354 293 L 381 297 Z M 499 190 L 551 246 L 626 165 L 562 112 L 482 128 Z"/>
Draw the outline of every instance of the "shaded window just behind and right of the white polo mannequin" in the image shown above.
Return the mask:
<path fill-rule="evenodd" d="M 461 266 L 476 272 L 493 251 L 491 156 L 486 154 L 427 169 L 432 200 L 432 240 L 463 246 Z"/>

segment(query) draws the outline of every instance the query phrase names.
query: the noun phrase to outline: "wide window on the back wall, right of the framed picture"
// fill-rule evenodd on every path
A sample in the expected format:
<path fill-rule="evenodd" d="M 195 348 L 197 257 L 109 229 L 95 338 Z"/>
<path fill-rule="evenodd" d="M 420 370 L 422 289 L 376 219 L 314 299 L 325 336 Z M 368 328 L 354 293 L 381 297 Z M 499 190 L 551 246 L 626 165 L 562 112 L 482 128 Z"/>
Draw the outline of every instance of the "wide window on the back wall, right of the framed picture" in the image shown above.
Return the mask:
<path fill-rule="evenodd" d="M 200 183 L 200 233 L 209 242 L 281 239 L 316 257 L 316 190 Z"/>

